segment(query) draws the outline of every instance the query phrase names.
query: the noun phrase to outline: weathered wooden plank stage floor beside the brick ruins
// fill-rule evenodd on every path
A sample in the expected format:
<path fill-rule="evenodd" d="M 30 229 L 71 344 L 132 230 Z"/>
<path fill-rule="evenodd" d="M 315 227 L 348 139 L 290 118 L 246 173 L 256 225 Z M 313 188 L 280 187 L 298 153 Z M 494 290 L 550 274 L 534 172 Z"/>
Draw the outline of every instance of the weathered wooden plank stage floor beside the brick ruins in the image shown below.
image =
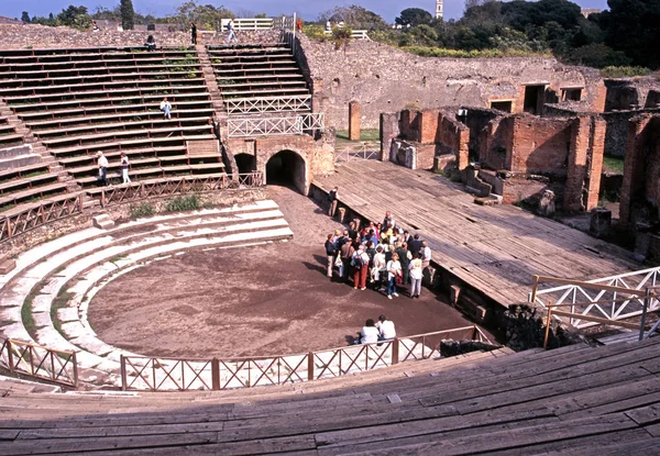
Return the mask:
<path fill-rule="evenodd" d="M 339 186 L 340 205 L 419 233 L 433 263 L 502 305 L 527 301 L 532 276 L 594 279 L 640 269 L 624 248 L 513 205 L 483 207 L 463 186 L 392 163 L 341 164 L 312 186 Z"/>

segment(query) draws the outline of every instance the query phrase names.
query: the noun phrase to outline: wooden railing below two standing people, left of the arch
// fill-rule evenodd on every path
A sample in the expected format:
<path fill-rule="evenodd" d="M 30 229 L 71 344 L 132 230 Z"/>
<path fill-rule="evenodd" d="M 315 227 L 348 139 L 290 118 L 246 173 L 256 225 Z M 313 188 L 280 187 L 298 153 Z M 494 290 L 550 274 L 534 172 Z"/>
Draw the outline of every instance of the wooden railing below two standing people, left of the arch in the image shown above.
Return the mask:
<path fill-rule="evenodd" d="M 90 191 L 91 196 L 100 196 L 103 208 L 153 198 L 167 198 L 175 194 L 205 193 L 221 190 L 244 190 L 264 186 L 260 171 L 240 174 L 235 179 L 228 175 L 218 176 L 180 176 L 160 180 L 105 187 Z"/>

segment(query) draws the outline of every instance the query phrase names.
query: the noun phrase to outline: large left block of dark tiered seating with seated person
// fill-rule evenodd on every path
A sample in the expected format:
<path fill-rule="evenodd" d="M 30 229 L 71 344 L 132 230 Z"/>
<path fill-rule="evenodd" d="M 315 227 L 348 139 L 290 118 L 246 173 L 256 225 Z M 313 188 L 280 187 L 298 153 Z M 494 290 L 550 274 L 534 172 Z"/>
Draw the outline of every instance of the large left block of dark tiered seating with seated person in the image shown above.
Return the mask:
<path fill-rule="evenodd" d="M 0 98 L 82 188 L 96 185 L 97 152 L 111 177 L 125 152 L 133 181 L 223 174 L 219 153 L 193 158 L 186 148 L 215 138 L 195 49 L 0 51 Z M 164 97 L 170 120 L 158 109 Z"/>

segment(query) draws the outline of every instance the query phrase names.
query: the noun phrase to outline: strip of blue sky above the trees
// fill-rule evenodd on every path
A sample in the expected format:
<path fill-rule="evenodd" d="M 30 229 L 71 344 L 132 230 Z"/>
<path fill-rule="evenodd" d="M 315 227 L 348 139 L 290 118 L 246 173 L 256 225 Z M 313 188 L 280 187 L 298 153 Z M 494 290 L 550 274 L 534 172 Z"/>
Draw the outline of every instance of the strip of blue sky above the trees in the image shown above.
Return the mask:
<path fill-rule="evenodd" d="M 575 0 L 573 0 L 575 1 Z M 165 15 L 174 12 L 183 0 L 133 0 L 135 11 L 142 14 Z M 367 10 L 381 14 L 387 22 L 394 19 L 406 8 L 421 8 L 435 13 L 436 0 L 199 0 L 199 3 L 210 3 L 216 7 L 223 5 L 231 11 L 249 10 L 255 13 L 265 12 L 268 15 L 293 14 L 294 11 L 307 20 L 316 20 L 320 12 L 336 5 L 360 4 Z M 606 9 L 606 0 L 578 0 L 582 8 Z M 58 13 L 69 4 L 85 4 L 90 12 L 97 5 L 114 8 L 119 0 L 0 0 L 0 15 L 20 18 L 23 11 L 31 16 Z M 459 19 L 463 13 L 464 0 L 444 0 L 444 19 Z"/>

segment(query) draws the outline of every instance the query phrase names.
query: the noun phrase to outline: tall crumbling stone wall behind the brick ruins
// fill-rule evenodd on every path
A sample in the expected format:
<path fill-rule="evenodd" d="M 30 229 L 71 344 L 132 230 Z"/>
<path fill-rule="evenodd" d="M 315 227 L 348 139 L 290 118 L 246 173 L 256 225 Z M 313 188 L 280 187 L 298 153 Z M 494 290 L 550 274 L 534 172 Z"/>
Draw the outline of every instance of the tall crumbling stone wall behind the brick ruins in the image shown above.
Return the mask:
<path fill-rule="evenodd" d="M 561 87 L 584 87 L 583 99 L 602 111 L 605 87 L 598 70 L 565 66 L 553 58 L 432 58 L 418 57 L 385 44 L 352 41 L 346 48 L 334 43 L 299 42 L 327 123 L 348 127 L 348 103 L 359 101 L 362 125 L 378 126 L 382 112 L 453 105 L 488 108 L 490 100 L 521 100 L 526 84 L 547 85 L 547 101 L 556 100 Z M 516 102 L 515 110 L 522 111 Z"/>

